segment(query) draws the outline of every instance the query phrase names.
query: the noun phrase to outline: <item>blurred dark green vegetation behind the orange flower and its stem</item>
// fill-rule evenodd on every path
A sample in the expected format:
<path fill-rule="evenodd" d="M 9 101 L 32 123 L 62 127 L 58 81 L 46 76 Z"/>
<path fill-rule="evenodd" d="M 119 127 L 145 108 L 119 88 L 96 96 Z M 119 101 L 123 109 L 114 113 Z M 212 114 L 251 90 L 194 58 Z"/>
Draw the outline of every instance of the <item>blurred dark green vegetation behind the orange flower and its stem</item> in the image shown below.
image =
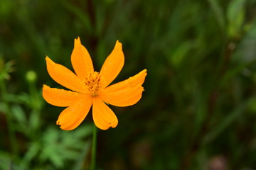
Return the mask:
<path fill-rule="evenodd" d="M 91 113 L 60 130 L 41 96 L 62 88 L 46 55 L 72 69 L 78 36 L 97 71 L 122 42 L 114 82 L 148 70 L 139 103 L 110 106 L 97 169 L 256 169 L 255 0 L 1 0 L 0 169 L 89 168 Z"/>

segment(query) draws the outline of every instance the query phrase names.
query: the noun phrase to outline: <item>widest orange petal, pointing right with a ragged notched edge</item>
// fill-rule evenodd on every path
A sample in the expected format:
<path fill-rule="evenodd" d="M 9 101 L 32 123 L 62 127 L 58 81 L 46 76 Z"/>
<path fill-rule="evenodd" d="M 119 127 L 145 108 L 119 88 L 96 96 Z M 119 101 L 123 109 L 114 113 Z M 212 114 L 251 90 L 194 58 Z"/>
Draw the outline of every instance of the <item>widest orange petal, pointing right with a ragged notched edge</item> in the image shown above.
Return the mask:
<path fill-rule="evenodd" d="M 146 77 L 146 69 L 134 77 L 113 84 L 100 92 L 100 98 L 114 106 L 132 106 L 142 98 L 142 84 Z"/>

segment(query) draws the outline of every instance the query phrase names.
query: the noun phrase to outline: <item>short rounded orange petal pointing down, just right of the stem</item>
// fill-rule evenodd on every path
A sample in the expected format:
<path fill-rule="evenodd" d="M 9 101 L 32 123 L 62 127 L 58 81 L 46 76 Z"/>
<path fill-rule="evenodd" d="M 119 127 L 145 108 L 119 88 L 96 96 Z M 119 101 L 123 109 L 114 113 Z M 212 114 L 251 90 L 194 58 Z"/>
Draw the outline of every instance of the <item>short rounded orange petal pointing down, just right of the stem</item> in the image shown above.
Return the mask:
<path fill-rule="evenodd" d="M 117 126 L 118 120 L 114 112 L 98 97 L 93 98 L 92 118 L 97 128 L 107 130 Z"/>

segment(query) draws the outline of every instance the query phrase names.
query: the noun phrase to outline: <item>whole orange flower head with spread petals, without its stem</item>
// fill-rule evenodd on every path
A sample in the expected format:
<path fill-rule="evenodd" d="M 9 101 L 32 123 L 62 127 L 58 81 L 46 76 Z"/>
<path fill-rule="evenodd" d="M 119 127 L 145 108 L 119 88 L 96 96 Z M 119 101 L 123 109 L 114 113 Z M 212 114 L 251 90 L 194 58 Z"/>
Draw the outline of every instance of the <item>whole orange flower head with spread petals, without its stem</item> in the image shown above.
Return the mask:
<path fill-rule="evenodd" d="M 63 130 L 73 130 L 82 123 L 92 106 L 92 118 L 97 128 L 107 130 L 117 126 L 114 112 L 106 105 L 132 106 L 142 98 L 142 84 L 146 69 L 134 77 L 108 86 L 124 66 L 122 44 L 117 40 L 114 50 L 105 60 L 100 72 L 95 72 L 92 60 L 80 38 L 75 39 L 71 62 L 75 74 L 63 65 L 46 57 L 50 77 L 58 84 L 72 90 L 50 88 L 43 85 L 43 98 L 54 106 L 68 107 L 60 113 L 57 125 Z"/>

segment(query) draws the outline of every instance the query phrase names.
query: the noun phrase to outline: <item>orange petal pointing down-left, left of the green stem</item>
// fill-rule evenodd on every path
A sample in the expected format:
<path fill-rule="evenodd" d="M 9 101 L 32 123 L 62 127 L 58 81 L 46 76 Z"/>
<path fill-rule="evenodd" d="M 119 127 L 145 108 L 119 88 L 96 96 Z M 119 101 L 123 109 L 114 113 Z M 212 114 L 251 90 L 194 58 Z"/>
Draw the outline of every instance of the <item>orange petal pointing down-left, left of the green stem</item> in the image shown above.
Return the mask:
<path fill-rule="evenodd" d="M 82 123 L 92 106 L 92 97 L 86 96 L 60 113 L 57 125 L 63 130 L 73 130 Z"/>

